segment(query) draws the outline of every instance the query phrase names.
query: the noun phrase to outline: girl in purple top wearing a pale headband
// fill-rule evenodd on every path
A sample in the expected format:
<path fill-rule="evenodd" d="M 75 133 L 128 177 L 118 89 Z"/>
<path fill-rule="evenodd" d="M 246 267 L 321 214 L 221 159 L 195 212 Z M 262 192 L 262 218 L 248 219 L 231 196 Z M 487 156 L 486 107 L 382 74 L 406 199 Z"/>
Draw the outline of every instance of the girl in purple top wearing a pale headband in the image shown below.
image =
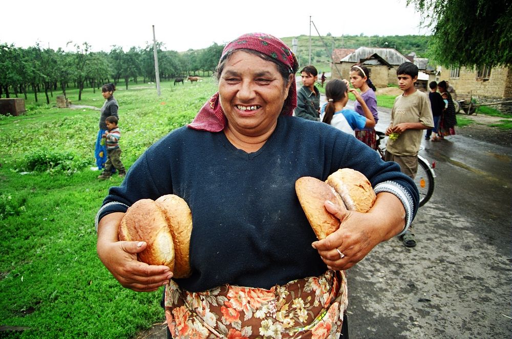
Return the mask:
<path fill-rule="evenodd" d="M 354 88 L 359 88 L 362 99 L 365 100 L 366 105 L 372 112 L 375 123 L 377 123 L 379 117 L 377 111 L 377 98 L 375 97 L 376 88 L 370 80 L 370 70 L 362 65 L 352 66 L 350 69 L 350 83 Z M 354 110 L 361 116 L 365 116 L 365 112 L 362 110 L 359 102 L 354 103 Z M 356 129 L 355 137 L 371 148 L 377 149 L 377 138 L 374 127 Z"/>

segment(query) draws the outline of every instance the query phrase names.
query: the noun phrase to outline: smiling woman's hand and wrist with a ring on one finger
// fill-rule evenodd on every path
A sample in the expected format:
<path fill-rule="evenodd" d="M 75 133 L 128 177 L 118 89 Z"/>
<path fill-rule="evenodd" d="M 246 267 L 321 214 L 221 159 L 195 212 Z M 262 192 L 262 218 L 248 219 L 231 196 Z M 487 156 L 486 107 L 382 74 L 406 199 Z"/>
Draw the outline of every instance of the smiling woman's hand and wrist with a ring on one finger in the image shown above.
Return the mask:
<path fill-rule="evenodd" d="M 379 193 L 367 213 L 348 211 L 326 201 L 325 208 L 341 221 L 339 229 L 312 243 L 326 265 L 345 270 L 364 259 L 378 243 L 398 234 L 405 225 L 405 210 L 391 193 Z M 388 214 L 387 214 L 388 213 Z M 339 251 L 339 252 L 338 252 Z"/>

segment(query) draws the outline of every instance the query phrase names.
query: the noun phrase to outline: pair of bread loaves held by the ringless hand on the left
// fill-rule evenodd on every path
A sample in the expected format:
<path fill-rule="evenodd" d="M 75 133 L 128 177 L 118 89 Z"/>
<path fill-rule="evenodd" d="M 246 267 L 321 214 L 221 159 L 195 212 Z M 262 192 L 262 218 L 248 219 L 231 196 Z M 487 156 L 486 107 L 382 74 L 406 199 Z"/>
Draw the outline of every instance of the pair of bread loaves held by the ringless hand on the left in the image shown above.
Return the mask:
<path fill-rule="evenodd" d="M 124 214 L 119 240 L 145 241 L 147 247 L 138 260 L 150 265 L 166 265 L 175 278 L 190 276 L 189 247 L 192 214 L 185 200 L 167 194 L 156 200 L 136 201 Z"/>

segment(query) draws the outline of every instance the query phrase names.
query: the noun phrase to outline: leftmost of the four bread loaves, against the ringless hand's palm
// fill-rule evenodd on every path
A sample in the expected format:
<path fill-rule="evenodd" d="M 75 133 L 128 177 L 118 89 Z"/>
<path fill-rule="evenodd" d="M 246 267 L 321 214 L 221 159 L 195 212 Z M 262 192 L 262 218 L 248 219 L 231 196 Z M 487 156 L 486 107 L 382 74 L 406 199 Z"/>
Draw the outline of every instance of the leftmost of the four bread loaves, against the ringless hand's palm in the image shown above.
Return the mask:
<path fill-rule="evenodd" d="M 119 240 L 145 241 L 139 261 L 166 265 L 174 271 L 174 241 L 162 210 L 151 199 L 135 202 L 124 214 L 119 226 Z"/>

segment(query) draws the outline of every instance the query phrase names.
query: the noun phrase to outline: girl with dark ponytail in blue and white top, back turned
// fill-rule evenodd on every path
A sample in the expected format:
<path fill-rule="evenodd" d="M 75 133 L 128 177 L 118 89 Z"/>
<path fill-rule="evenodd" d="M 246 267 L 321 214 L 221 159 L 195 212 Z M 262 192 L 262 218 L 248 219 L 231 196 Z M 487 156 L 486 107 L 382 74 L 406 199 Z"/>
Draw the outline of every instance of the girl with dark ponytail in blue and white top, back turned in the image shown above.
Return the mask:
<path fill-rule="evenodd" d="M 348 92 L 355 95 L 364 116 L 351 109 L 344 109 L 349 101 Z M 321 119 L 329 125 L 355 136 L 354 130 L 375 126 L 375 118 L 365 100 L 355 89 L 348 89 L 347 84 L 339 79 L 330 80 L 325 86 L 327 104 L 322 107 Z"/>

